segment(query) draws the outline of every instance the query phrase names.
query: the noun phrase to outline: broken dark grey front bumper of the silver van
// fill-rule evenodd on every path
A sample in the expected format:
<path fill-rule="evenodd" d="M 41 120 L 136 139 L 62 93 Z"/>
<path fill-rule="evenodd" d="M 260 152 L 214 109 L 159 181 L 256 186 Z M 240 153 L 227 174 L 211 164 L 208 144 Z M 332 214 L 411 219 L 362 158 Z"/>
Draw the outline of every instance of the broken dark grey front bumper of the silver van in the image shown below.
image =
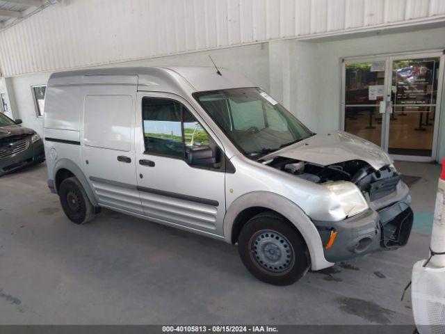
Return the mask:
<path fill-rule="evenodd" d="M 414 221 L 407 191 L 407 186 L 399 182 L 394 193 L 371 202 L 361 214 L 343 221 L 314 221 L 325 259 L 345 262 L 377 250 L 405 246 Z"/>

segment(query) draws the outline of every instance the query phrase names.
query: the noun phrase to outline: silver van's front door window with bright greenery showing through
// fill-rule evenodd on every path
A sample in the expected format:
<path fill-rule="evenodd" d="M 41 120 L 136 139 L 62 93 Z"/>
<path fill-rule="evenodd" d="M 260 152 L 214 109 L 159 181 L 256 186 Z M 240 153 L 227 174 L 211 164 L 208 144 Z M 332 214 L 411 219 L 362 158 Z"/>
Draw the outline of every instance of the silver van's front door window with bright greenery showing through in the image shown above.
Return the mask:
<path fill-rule="evenodd" d="M 223 154 L 200 122 L 174 100 L 143 97 L 143 129 L 148 154 L 179 157 L 191 166 L 220 169 Z"/>

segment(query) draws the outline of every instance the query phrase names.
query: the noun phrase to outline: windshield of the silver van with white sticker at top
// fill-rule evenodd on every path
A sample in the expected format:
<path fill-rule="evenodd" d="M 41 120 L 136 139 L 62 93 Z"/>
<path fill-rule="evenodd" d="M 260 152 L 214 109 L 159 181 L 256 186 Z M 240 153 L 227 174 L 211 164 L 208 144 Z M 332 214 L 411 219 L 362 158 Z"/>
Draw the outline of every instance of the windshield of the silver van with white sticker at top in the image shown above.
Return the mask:
<path fill-rule="evenodd" d="M 259 88 L 213 90 L 194 96 L 238 149 L 251 157 L 312 136 L 307 127 Z"/>

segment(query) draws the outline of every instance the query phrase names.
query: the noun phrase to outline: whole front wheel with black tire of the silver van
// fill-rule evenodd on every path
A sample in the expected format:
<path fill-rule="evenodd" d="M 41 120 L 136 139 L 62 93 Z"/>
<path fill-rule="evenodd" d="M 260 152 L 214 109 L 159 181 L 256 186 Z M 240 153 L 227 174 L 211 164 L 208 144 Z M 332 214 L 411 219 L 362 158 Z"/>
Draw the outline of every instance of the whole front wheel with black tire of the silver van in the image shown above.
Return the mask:
<path fill-rule="evenodd" d="M 248 271 L 265 283 L 291 285 L 309 270 L 305 240 L 275 212 L 257 214 L 245 223 L 238 237 L 238 252 Z"/>

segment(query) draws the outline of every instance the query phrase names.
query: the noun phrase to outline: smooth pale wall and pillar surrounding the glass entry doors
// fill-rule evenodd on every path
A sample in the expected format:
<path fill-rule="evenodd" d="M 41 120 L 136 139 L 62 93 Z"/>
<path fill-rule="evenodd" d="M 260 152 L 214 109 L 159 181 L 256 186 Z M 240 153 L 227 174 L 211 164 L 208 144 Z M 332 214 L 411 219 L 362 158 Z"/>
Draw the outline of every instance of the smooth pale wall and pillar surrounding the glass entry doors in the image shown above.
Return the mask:
<path fill-rule="evenodd" d="M 270 94 L 314 132 L 325 133 L 342 127 L 342 58 L 442 51 L 445 27 L 321 41 L 280 40 L 268 45 Z M 441 115 L 445 115 L 445 85 L 443 89 Z M 437 159 L 443 157 L 444 117 L 439 119 Z"/>

